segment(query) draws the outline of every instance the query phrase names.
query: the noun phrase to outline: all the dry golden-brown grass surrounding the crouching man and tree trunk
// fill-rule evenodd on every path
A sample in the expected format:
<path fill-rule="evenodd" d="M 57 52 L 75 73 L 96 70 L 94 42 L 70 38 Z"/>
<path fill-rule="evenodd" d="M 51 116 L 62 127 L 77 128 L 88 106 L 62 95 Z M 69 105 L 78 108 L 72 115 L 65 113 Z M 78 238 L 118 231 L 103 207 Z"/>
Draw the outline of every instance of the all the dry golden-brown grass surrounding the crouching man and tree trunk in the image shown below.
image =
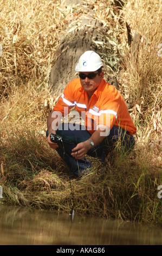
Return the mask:
<path fill-rule="evenodd" d="M 75 210 L 81 214 L 160 223 L 161 185 L 161 4 L 129 0 L 122 9 L 113 1 L 0 0 L 0 181 L 4 200 L 11 204 L 69 211 L 72 191 L 69 170 L 46 143 L 46 120 L 59 95 L 51 92 L 49 74 L 62 35 L 80 29 L 80 20 L 93 9 L 108 26 L 112 48 L 100 53 L 106 70 L 115 67 L 138 133 L 129 156 L 118 154 L 100 176 L 94 172 L 72 180 Z M 142 35 L 137 62 L 132 62 L 125 22 Z M 72 25 L 74 24 L 74 27 Z M 122 62 L 121 62 L 122 60 Z M 142 153 L 142 154 L 141 154 Z"/>

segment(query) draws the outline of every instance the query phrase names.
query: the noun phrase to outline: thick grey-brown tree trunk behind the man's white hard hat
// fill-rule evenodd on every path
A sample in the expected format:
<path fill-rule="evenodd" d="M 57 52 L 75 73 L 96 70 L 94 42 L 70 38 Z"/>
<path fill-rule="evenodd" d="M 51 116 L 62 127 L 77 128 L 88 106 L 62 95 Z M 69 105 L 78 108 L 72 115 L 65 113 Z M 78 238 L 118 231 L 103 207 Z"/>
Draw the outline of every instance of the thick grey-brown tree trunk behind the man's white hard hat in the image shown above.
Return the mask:
<path fill-rule="evenodd" d="M 75 0 L 75 4 L 77 2 L 78 0 Z M 62 37 L 61 44 L 56 51 L 56 60 L 51 69 L 49 79 L 52 90 L 56 90 L 58 94 L 63 92 L 64 88 L 72 79 L 78 77 L 76 76 L 75 66 L 82 53 L 94 50 L 100 55 L 100 49 L 95 41 L 104 41 L 109 48 L 112 47 L 103 38 L 103 35 L 108 31 L 108 27 L 103 26 L 102 23 L 94 19 L 93 9 L 89 10 L 89 13 L 85 15 L 84 19 L 80 19 L 79 21 L 77 19 L 76 21 L 73 20 L 73 26 L 68 24 L 67 29 L 64 28 L 65 31 L 69 31 L 70 27 L 70 33 L 64 33 L 66 35 Z M 104 51 L 106 53 L 106 50 L 102 48 L 102 53 Z M 104 79 L 107 82 L 110 81 L 116 88 L 118 87 L 116 77 L 113 74 L 110 76 L 110 71 L 106 70 Z"/>

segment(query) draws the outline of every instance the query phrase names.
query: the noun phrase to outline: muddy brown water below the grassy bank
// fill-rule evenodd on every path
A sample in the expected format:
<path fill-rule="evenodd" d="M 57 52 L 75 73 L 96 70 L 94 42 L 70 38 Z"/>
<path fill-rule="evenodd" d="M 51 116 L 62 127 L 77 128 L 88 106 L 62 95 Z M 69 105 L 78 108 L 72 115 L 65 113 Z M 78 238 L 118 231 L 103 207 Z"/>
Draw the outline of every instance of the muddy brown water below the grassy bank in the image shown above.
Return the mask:
<path fill-rule="evenodd" d="M 161 245 L 162 228 L 0 203 L 0 245 Z"/>

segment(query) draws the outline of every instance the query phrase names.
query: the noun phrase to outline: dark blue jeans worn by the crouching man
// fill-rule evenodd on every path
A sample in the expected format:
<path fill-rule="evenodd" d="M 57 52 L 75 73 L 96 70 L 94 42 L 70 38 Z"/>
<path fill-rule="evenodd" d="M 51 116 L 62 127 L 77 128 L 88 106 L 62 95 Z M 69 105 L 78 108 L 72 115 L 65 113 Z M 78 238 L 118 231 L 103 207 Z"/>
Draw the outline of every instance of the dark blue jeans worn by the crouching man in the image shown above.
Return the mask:
<path fill-rule="evenodd" d="M 85 130 L 85 126 L 76 124 L 75 130 L 71 130 L 69 129 L 69 125 L 66 123 L 59 126 L 56 134 L 62 136 L 64 145 L 64 151 L 57 148 L 57 152 L 64 162 L 67 163 L 67 166 L 70 168 L 73 174 L 80 176 L 83 171 L 91 167 L 91 163 L 86 160 L 86 157 L 81 160 L 76 160 L 73 156 L 71 156 L 71 153 L 72 149 L 75 148 L 78 143 L 86 141 L 90 138 L 90 133 Z M 48 131 L 46 136 L 48 136 Z M 115 143 L 119 140 L 119 138 L 122 142 L 123 149 L 129 153 L 135 144 L 134 137 L 118 126 L 113 126 L 109 132 L 109 135 L 103 139 L 99 145 L 90 149 L 87 155 L 99 157 L 101 158 L 101 161 L 104 162 L 105 157 L 114 149 Z"/>

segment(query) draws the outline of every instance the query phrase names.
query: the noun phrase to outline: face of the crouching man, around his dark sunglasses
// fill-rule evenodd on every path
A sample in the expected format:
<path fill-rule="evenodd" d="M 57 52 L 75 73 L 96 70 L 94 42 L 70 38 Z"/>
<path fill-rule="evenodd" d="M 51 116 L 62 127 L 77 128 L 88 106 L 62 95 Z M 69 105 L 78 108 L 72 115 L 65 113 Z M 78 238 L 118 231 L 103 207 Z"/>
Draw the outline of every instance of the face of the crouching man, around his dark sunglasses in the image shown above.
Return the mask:
<path fill-rule="evenodd" d="M 81 86 L 88 93 L 89 96 L 92 96 L 92 94 L 95 92 L 96 88 L 98 88 L 98 86 L 101 83 L 101 80 L 103 78 L 103 72 L 101 72 L 100 74 L 98 74 L 98 71 L 80 72 L 80 74 L 85 74 L 85 75 L 97 74 L 94 78 L 86 77 L 85 79 L 82 79 L 80 77 Z"/>

